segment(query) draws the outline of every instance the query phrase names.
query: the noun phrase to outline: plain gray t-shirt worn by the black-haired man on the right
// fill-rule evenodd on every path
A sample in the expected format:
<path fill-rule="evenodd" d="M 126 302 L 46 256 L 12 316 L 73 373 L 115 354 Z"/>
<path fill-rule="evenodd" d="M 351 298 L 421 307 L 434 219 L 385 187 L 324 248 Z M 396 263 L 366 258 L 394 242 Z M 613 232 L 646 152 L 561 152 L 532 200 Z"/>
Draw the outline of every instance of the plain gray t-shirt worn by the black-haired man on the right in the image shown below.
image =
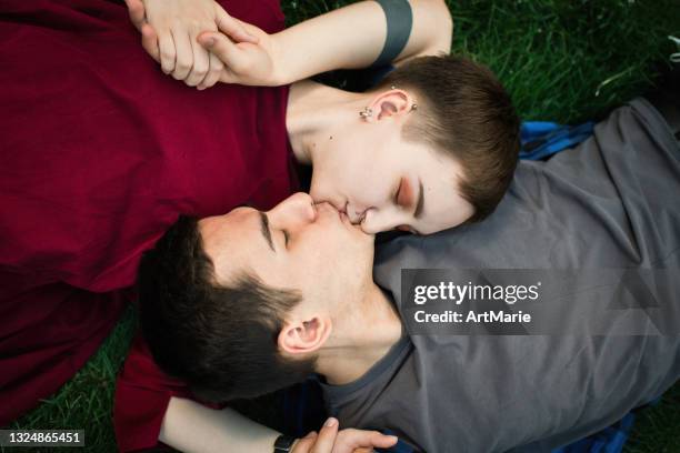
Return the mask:
<path fill-rule="evenodd" d="M 398 309 L 402 268 L 678 269 L 678 142 L 638 99 L 576 149 L 521 162 L 487 221 L 379 248 L 374 279 Z M 679 378 L 680 336 L 404 334 L 361 379 L 323 392 L 343 425 L 392 430 L 422 451 L 548 452 Z"/>

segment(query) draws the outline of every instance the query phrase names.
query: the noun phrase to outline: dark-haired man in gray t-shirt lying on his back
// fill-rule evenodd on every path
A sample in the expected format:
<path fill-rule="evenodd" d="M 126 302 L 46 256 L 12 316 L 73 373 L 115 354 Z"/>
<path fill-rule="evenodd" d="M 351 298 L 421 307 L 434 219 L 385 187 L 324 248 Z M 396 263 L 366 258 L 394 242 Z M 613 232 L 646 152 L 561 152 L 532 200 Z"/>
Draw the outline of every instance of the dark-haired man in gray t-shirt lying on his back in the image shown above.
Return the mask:
<path fill-rule="evenodd" d="M 672 272 L 679 194 L 678 142 L 640 99 L 576 149 L 521 162 L 484 222 L 398 238 L 376 256 L 373 236 L 306 194 L 178 222 L 163 262 L 218 288 L 170 320 L 159 321 L 168 308 L 142 311 L 142 328 L 162 330 L 173 346 L 152 345 L 154 359 L 200 396 L 256 396 L 317 372 L 343 426 L 391 430 L 427 452 L 546 452 L 678 380 L 680 279 L 658 301 L 674 335 L 608 335 L 607 323 L 599 336 L 434 335 L 404 329 L 401 269 Z M 554 310 L 578 318 L 570 304 Z"/>

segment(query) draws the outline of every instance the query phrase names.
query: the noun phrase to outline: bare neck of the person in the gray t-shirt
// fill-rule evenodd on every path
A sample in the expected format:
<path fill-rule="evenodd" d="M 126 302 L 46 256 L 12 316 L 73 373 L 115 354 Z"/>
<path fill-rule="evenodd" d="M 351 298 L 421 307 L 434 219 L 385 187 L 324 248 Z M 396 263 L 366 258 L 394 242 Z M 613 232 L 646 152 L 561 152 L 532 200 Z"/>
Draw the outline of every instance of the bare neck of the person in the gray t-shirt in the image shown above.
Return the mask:
<path fill-rule="evenodd" d="M 319 351 L 317 372 L 333 385 L 366 374 L 401 338 L 401 320 L 394 306 L 376 285 L 363 303 L 333 320 L 332 341 Z"/>

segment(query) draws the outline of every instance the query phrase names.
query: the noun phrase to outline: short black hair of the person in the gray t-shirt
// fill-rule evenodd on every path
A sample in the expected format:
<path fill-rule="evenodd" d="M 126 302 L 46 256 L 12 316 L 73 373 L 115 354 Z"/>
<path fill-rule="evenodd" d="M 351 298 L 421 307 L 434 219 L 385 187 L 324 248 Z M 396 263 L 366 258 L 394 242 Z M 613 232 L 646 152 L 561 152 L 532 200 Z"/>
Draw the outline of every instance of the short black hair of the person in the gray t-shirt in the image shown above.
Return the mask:
<path fill-rule="evenodd" d="M 259 396 L 313 371 L 313 359 L 278 352 L 283 315 L 301 296 L 246 273 L 234 281 L 229 288 L 217 282 L 198 220 L 184 215 L 139 268 L 141 329 L 153 359 L 209 401 Z"/>

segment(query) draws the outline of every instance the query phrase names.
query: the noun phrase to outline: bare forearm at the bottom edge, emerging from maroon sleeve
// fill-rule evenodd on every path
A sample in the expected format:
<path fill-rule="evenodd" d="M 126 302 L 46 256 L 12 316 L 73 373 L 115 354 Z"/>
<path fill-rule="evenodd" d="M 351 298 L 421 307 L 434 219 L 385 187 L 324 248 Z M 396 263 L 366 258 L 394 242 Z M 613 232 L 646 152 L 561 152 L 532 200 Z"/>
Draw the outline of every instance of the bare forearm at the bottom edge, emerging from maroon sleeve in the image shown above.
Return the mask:
<path fill-rule="evenodd" d="M 172 397 L 159 440 L 186 453 L 270 453 L 279 435 L 230 410 L 213 410 Z"/>

